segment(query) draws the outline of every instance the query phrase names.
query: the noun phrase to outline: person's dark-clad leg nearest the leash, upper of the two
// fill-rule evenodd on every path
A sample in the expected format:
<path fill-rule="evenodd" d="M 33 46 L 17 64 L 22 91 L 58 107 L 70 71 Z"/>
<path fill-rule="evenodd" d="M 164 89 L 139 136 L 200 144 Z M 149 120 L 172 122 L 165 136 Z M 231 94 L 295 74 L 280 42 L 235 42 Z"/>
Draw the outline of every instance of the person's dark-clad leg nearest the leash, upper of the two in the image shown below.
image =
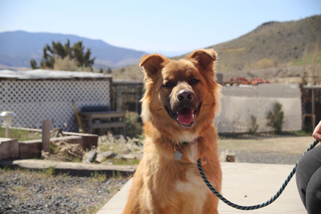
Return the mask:
<path fill-rule="evenodd" d="M 296 182 L 299 191 L 299 195 L 304 204 L 306 205 L 306 192 L 310 178 L 321 167 L 321 146 L 316 146 L 312 150 L 308 151 L 299 160 L 296 169 Z"/>

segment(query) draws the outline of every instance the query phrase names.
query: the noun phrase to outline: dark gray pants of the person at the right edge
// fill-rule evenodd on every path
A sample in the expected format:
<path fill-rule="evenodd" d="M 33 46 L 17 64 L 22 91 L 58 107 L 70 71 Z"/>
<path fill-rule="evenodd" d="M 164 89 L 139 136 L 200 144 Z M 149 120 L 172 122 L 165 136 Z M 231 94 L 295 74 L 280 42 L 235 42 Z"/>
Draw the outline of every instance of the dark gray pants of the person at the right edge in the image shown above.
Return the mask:
<path fill-rule="evenodd" d="M 308 151 L 299 160 L 296 181 L 308 214 L 321 214 L 321 146 Z"/>

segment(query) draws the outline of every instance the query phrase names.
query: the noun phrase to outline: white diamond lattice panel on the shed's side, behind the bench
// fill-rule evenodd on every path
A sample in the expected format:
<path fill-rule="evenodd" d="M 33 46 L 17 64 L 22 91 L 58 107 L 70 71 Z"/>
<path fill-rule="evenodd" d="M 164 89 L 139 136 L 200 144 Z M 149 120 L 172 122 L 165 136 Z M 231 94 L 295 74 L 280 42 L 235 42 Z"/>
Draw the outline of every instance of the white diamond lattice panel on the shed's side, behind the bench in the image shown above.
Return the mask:
<path fill-rule="evenodd" d="M 52 128 L 75 131 L 74 100 L 82 106 L 110 106 L 111 79 L 0 80 L 0 112 L 13 111 L 13 126 L 41 128 L 50 119 Z"/>

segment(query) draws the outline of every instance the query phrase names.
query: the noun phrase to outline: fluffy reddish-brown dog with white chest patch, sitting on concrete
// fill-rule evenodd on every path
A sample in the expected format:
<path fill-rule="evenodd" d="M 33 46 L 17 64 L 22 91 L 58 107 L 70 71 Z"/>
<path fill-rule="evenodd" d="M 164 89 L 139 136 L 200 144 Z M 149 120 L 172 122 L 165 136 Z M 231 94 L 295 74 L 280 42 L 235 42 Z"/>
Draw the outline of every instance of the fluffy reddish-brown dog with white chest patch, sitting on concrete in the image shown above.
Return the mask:
<path fill-rule="evenodd" d="M 196 50 L 186 59 L 143 56 L 146 92 L 142 99 L 144 155 L 134 174 L 124 214 L 218 213 L 218 198 L 197 168 L 221 190 L 217 133 L 212 124 L 220 108 L 214 80 L 216 53 Z M 175 150 L 183 154 L 174 159 Z M 179 157 L 178 157 L 179 158 Z"/>

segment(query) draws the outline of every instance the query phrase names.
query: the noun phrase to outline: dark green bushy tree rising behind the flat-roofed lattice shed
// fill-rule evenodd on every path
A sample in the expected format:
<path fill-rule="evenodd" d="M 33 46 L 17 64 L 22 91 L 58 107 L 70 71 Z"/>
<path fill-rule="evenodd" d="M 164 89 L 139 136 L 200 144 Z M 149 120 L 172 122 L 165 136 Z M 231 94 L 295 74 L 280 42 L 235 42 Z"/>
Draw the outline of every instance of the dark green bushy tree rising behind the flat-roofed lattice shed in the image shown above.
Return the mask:
<path fill-rule="evenodd" d="M 84 53 L 85 47 L 82 46 L 82 41 L 74 43 L 72 47 L 70 47 L 70 41 L 67 39 L 65 45 L 61 44 L 61 42 L 52 41 L 52 46 L 48 44 L 43 48 L 43 56 L 40 62 L 40 67 L 44 69 L 54 69 L 54 65 L 57 59 L 69 59 L 75 60 L 76 66 L 83 68 L 90 68 L 92 71 L 92 65 L 94 64 L 94 60 L 96 57 L 90 59 L 91 50 L 87 48 L 87 51 Z M 32 69 L 39 68 L 34 59 L 30 60 L 30 65 Z"/>

